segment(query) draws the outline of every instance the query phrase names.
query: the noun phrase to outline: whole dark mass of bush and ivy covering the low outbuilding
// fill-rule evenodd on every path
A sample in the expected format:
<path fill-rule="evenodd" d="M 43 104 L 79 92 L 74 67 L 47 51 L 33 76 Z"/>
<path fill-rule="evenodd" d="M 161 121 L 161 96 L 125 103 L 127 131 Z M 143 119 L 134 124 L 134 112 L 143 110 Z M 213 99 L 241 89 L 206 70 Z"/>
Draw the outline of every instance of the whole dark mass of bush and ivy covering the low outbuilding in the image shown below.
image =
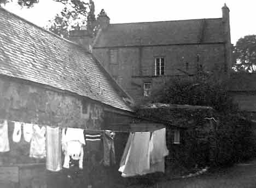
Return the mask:
<path fill-rule="evenodd" d="M 205 109 L 137 109 L 139 117 L 171 119 L 176 126 L 187 125 L 182 131 L 182 144 L 178 147 L 167 139 L 173 161 L 187 168 L 195 166 L 225 166 L 255 156 L 256 144 L 251 122 L 242 122 L 237 105 L 226 90 L 226 83 L 203 76 L 197 79 L 172 80 L 153 91 L 146 103 L 203 105 Z M 213 116 L 217 122 L 206 121 Z M 159 119 L 158 119 L 159 120 Z M 208 126 L 209 122 L 213 125 Z M 169 125 L 170 126 L 170 125 Z M 212 128 L 211 128 L 212 127 Z M 171 145 L 171 146 L 170 146 Z"/>

